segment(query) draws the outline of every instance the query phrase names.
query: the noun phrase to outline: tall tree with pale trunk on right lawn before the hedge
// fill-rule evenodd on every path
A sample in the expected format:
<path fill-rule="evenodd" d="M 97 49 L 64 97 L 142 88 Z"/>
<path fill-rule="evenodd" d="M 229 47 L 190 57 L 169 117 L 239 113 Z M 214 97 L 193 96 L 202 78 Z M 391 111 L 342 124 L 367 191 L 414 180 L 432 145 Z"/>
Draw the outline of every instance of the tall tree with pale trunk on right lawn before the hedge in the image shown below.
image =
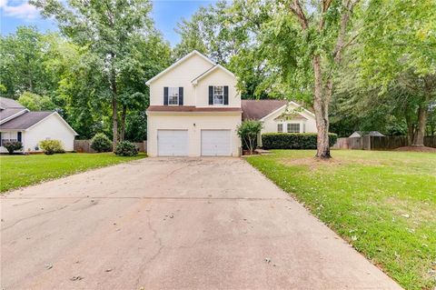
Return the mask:
<path fill-rule="evenodd" d="M 342 53 L 356 35 L 351 29 L 358 0 L 235 1 L 237 13 L 259 28 L 255 34 L 269 66 L 272 87 L 312 101 L 318 129 L 316 157 L 330 158 L 329 105 Z M 263 11 L 266 16 L 257 17 Z M 260 21 L 259 21 L 260 20 Z"/>

